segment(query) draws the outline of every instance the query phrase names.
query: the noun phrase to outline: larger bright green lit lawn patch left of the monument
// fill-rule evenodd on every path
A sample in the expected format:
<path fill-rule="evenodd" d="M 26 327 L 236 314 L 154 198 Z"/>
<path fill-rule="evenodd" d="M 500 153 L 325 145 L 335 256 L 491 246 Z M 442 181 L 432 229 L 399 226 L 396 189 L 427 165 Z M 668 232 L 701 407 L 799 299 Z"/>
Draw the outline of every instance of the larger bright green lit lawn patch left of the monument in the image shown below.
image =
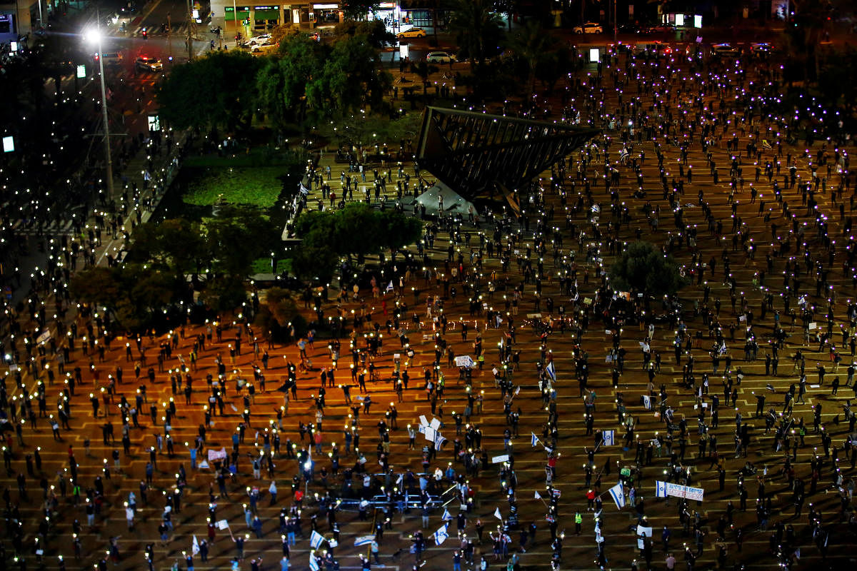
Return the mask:
<path fill-rule="evenodd" d="M 289 174 L 285 167 L 236 168 L 208 170 L 193 181 L 182 199 L 189 205 L 214 205 L 224 199 L 232 205 L 254 205 L 270 208 L 283 187 L 280 176 Z"/>

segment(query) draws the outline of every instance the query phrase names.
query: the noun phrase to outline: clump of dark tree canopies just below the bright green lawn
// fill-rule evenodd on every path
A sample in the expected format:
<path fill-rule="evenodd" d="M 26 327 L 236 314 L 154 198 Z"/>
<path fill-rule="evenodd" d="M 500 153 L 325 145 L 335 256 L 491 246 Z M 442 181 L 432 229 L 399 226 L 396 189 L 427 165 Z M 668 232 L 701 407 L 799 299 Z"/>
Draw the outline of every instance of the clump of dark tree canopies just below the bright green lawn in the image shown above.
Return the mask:
<path fill-rule="evenodd" d="M 247 299 L 243 282 L 253 261 L 279 249 L 278 224 L 246 206 L 221 207 L 202 222 L 143 223 L 122 265 L 78 272 L 71 288 L 77 299 L 111 309 L 129 329 L 186 311 L 193 303 L 188 277 L 203 304 L 231 310 Z"/>

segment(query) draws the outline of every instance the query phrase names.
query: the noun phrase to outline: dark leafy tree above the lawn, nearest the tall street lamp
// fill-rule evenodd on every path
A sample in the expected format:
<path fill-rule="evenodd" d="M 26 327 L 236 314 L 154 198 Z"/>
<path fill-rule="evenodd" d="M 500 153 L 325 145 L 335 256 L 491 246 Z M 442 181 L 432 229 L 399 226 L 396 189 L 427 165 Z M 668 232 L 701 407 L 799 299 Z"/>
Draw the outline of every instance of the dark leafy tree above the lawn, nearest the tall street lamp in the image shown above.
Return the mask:
<path fill-rule="evenodd" d="M 260 59 L 246 51 L 211 51 L 177 65 L 155 97 L 172 128 L 249 127 L 255 112 L 255 77 Z"/>

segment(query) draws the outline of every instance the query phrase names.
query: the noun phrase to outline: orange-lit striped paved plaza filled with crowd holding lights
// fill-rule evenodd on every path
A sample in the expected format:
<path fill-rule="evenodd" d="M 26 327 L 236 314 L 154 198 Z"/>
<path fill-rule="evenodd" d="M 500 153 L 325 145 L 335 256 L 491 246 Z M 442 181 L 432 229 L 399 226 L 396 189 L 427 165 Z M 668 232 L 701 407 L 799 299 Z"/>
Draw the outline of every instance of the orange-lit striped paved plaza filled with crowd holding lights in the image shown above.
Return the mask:
<path fill-rule="evenodd" d="M 848 544 L 854 541 L 851 492 L 857 451 L 847 443 L 854 428 L 847 405 L 857 389 L 847 381 L 854 373 L 849 364 L 854 360 L 857 282 L 850 235 L 853 181 L 840 173 L 843 167 L 847 172 L 853 148 L 825 141 L 820 134 L 807 145 L 804 129 L 787 133 L 791 116 L 782 122 L 766 118 L 768 108 L 759 98 L 770 94 L 759 86 L 782 78 L 776 65 L 741 63 L 746 71 L 734 60 L 688 63 L 621 55 L 600 70 L 584 69 L 570 81 L 564 100 L 555 92 L 542 104 L 551 108 L 548 121 L 559 120 L 560 114 L 579 114 L 585 127 L 591 117 L 589 126 L 603 128 L 603 135 L 545 172 L 536 187 L 518 189 L 524 218 L 504 222 L 482 214 L 477 224 L 466 219 L 460 225 L 435 222 L 422 248 L 428 264 L 423 265 L 417 247 L 411 247 L 419 261 L 412 271 L 402 271 L 392 288 L 387 288 L 391 280 L 386 276 L 376 277 L 377 291 L 364 287 L 355 295 L 351 284 L 342 292 L 328 288 L 320 302 L 324 318 L 343 316 L 348 324 L 338 340 L 320 333 L 312 342 L 304 339 L 303 349 L 295 342 L 269 342 L 267 331 L 253 329 L 251 334 L 236 313 L 208 327 L 188 324 L 169 336 L 129 338 L 111 331 L 114 336 L 103 354 L 98 348 L 85 353 L 81 344 L 93 336 L 87 326 L 95 326 L 96 320 L 76 312 L 75 348 L 65 369 L 72 377 L 79 372 L 81 380 L 69 396 L 70 429 L 60 426 L 57 439 L 49 420 L 39 413 L 39 399 L 33 398 L 34 428 L 27 419 L 21 437 L 7 432 L 7 568 L 16 568 L 15 543 L 23 554 L 17 563 L 21 568 L 24 562 L 26 568 L 92 568 L 105 559 L 107 568 L 144 569 L 147 550 L 153 568 L 174 563 L 186 568 L 183 554 L 191 553 L 196 539 L 198 544 L 207 542 L 207 560 L 195 556 L 195 568 L 231 568 L 233 558 L 240 556 L 238 568 L 277 569 L 288 532 L 294 531 L 291 568 L 306 569 L 315 527 L 327 542 L 339 537 L 335 548 L 324 543 L 319 552 L 331 550 L 339 568 L 346 569 L 362 568 L 361 556 L 370 559 L 372 568 L 411 569 L 417 562 L 411 550 L 417 532 L 422 532 L 427 548 L 418 559 L 426 569 L 449 568 L 463 548 L 461 564 L 468 567 L 470 548 L 462 538 L 472 544 L 470 567 L 479 568 L 484 557 L 489 568 L 503 568 L 508 558 L 494 552 L 498 532 L 507 535 L 508 556 L 517 553 L 523 569 L 548 569 L 558 552 L 560 568 L 598 568 L 596 538 L 603 540 L 600 564 L 605 568 L 631 568 L 635 560 L 644 568 L 638 514 L 653 528 L 647 548 L 650 568 L 666 568 L 667 553 L 674 554 L 677 568 L 686 568 L 686 547 L 697 556 L 693 568 L 733 568 L 740 563 L 775 568 L 781 561 L 778 551 L 784 560 L 798 547 L 800 559 L 792 557 L 789 563 L 793 568 L 846 568 L 853 554 Z M 558 87 L 557 92 L 565 89 Z M 415 187 L 411 163 L 403 164 L 401 173 L 396 164 L 369 165 L 363 182 L 358 173 L 348 172 L 347 164 L 335 162 L 333 149 L 321 154 L 316 173 L 341 197 L 342 171 L 360 179 L 362 188 L 374 185 L 375 170 L 379 176 L 390 173 L 383 192 L 387 207 L 395 202 L 396 184 L 405 181 L 405 174 L 408 190 Z M 430 173 L 421 174 L 432 179 Z M 806 185 L 812 187 L 811 195 L 804 192 Z M 316 199 L 327 205 L 317 184 L 309 208 L 316 208 Z M 363 199 L 363 193 L 355 192 L 354 199 Z M 407 212 L 413 211 L 409 199 L 406 194 Z M 371 201 L 377 204 L 374 195 Z M 451 229 L 456 230 L 452 235 Z M 691 282 L 680 291 L 678 308 L 651 300 L 644 324 L 634 318 L 643 300 L 623 303 L 612 289 L 606 298 L 596 293 L 602 287 L 602 271 L 638 238 L 671 253 Z M 800 276 L 793 278 L 794 271 Z M 481 297 L 474 303 L 470 295 L 475 290 Z M 264 291 L 261 296 L 264 299 Z M 54 302 L 46 303 L 52 309 Z M 316 318 L 311 303 L 299 301 L 299 306 L 308 319 Z M 29 316 L 25 303 L 16 340 L 24 356 L 21 336 L 33 330 Z M 200 336 L 205 337 L 204 347 Z M 407 337 L 406 345 L 401 336 Z M 103 336 L 96 337 L 105 342 Z M 335 362 L 334 341 L 339 342 Z M 758 347 L 751 351 L 755 359 L 748 359 L 746 348 L 752 341 Z M 645 364 L 644 344 L 651 349 Z M 715 351 L 720 354 L 714 365 L 711 351 L 716 344 L 725 350 Z M 482 361 L 476 345 L 482 348 Z M 10 342 L 4 347 L 9 353 Z M 789 387 L 800 385 L 798 352 L 805 364 L 806 394 L 795 393 L 796 402 L 784 407 Z M 50 348 L 46 353 L 56 368 Z M 41 359 L 39 350 L 33 355 Z M 455 356 L 464 355 L 476 360 L 470 382 L 454 362 Z M 302 366 L 307 360 L 310 370 Z M 288 388 L 290 363 L 295 366 L 294 392 Z M 366 370 L 366 393 L 358 386 L 359 377 L 352 378 L 355 363 L 357 371 Z M 545 372 L 548 363 L 551 373 Z M 187 371 L 177 375 L 180 367 Z M 254 378 L 255 367 L 264 384 Z M 109 396 L 119 369 L 121 383 Z M 327 379 L 320 407 L 323 370 L 333 370 L 334 380 Z M 402 378 L 405 370 L 407 388 L 397 393 L 393 377 L 398 373 Z M 427 371 L 432 393 L 426 390 Z M 213 384 L 207 382 L 207 375 L 217 379 L 219 372 L 225 378 L 222 403 L 209 401 Z M 552 374 L 552 390 L 542 392 L 540 386 L 546 389 L 544 379 Z M 171 382 L 177 376 L 185 377 L 183 383 Z M 581 377 L 585 391 L 580 389 Z M 41 378 L 48 383 L 47 373 Z M 189 391 L 187 378 L 193 382 Z M 54 418 L 62 379 L 57 372 L 45 387 L 46 412 Z M 37 394 L 32 374 L 26 372 L 21 382 L 28 395 Z M 5 384 L 9 407 L 20 409 L 14 371 Z M 342 385 L 350 386 L 347 393 Z M 141 393 L 142 405 L 136 398 Z M 358 400 L 364 395 L 371 397 L 370 406 Z M 118 407 L 123 397 L 137 408 L 137 418 L 125 430 Z M 506 406 L 511 417 L 504 412 Z M 459 424 L 456 417 L 463 417 L 465 407 L 470 418 L 461 418 Z M 715 407 L 716 421 L 710 413 Z M 775 413 L 766 430 L 764 417 L 770 407 Z M 787 408 L 790 417 L 783 416 Z M 589 409 L 591 427 L 586 422 Z M 21 413 L 15 414 L 20 421 Z M 672 417 L 671 442 L 664 414 Z M 414 445 L 409 437 L 409 426 L 416 430 L 421 416 L 439 420 L 437 432 L 446 438 L 440 451 L 425 461 L 425 435 L 417 431 Z M 164 438 L 166 417 L 169 439 Z M 800 420 L 806 427 L 803 433 Z M 315 439 L 305 427 L 319 423 L 320 438 Z M 708 435 L 704 444 L 700 424 Z M 745 446 L 736 454 L 736 426 L 745 424 Z M 547 448 L 554 427 L 557 443 L 551 461 Z M 776 438 L 781 428 L 788 432 L 785 439 Z M 599 442 L 604 431 L 614 431 L 612 445 Z M 279 443 L 274 442 L 275 432 Z M 359 435 L 359 446 L 346 432 Z M 830 435 L 830 441 L 824 435 Z M 661 443 L 656 446 L 658 437 Z M 711 437 L 716 437 L 713 456 Z M 194 455 L 193 467 L 190 450 L 198 439 L 204 444 Z M 294 453 L 287 452 L 289 445 Z M 704 489 L 701 502 L 686 503 L 686 514 L 680 513 L 677 498 L 656 497 L 656 480 L 679 481 L 674 474 L 666 475 L 673 469 L 668 467 L 668 446 L 676 456 L 674 466 L 689 475 L 688 485 Z M 459 448 L 462 454 L 456 455 Z M 334 449 L 338 469 L 333 466 Z M 468 473 L 463 459 L 470 449 L 472 457 L 480 464 L 487 459 L 488 465 L 471 467 Z M 222 479 L 214 460 L 201 466 L 212 451 L 217 456 L 220 450 L 230 460 L 237 451 L 237 472 Z M 254 473 L 254 459 L 260 454 L 271 461 L 259 462 Z M 511 457 L 513 475 L 503 462 L 492 463 L 502 455 Z M 312 466 L 309 482 L 303 478 L 307 461 Z M 434 498 L 431 509 L 419 507 L 419 474 L 425 467 L 424 485 Z M 442 476 L 435 481 L 436 470 Z M 71 481 L 75 472 L 80 490 Z M 369 479 L 363 479 L 364 472 Z M 16 474 L 23 474 L 22 479 L 16 480 Z M 350 487 L 346 474 L 353 474 Z M 623 509 L 617 509 L 608 493 L 620 476 L 629 484 L 623 489 Z M 794 479 L 806 485 L 803 494 L 795 494 L 797 486 L 790 484 Z M 272 481 L 276 497 L 270 492 Z M 371 492 L 363 491 L 364 485 Z M 395 501 L 392 509 L 381 504 L 375 508 L 375 503 L 361 508 L 361 497 L 382 496 L 391 488 L 396 497 L 403 487 L 413 503 L 404 512 Z M 597 537 L 594 514 L 599 508 L 593 503 L 588 509 L 590 489 L 603 503 Z M 498 526 L 512 515 L 512 490 L 518 526 L 504 532 Z M 462 491 L 469 503 L 461 502 Z M 132 492 L 136 509 L 129 521 L 126 504 Z M 556 506 L 548 512 L 554 493 Z M 742 496 L 746 509 L 741 507 Z M 170 526 L 165 526 L 168 498 L 176 499 L 169 500 Z M 342 499 L 339 509 L 331 509 L 336 500 L 330 498 Z M 45 523 L 46 509 L 50 525 Z M 299 529 L 281 526 L 284 509 L 286 518 L 300 520 Z M 503 522 L 495 516 L 497 509 Z M 576 513 L 582 520 L 579 533 Z M 445 514 L 451 518 L 449 538 L 436 545 L 433 535 Z M 546 514 L 554 519 L 561 549 L 552 541 Z M 21 522 L 17 538 L 15 520 Z M 228 528 L 219 528 L 221 520 Z M 520 530 L 529 532 L 530 524 L 535 525 L 534 537 L 522 538 Z M 671 530 L 666 551 L 664 526 Z M 375 536 L 377 561 L 371 544 L 355 546 L 357 538 L 366 536 Z M 496 544 L 502 551 L 503 541 Z M 327 564 L 333 568 L 332 562 Z"/>

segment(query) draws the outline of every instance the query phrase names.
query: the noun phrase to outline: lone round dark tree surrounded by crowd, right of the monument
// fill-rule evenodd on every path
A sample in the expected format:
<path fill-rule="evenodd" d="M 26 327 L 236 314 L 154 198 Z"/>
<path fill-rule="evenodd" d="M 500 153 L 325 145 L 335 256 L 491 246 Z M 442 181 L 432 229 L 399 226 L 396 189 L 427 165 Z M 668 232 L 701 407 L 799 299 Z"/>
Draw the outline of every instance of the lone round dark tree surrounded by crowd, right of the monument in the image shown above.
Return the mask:
<path fill-rule="evenodd" d="M 609 271 L 615 290 L 639 291 L 646 295 L 671 295 L 686 285 L 679 265 L 654 244 L 636 241 L 626 247 Z"/>

